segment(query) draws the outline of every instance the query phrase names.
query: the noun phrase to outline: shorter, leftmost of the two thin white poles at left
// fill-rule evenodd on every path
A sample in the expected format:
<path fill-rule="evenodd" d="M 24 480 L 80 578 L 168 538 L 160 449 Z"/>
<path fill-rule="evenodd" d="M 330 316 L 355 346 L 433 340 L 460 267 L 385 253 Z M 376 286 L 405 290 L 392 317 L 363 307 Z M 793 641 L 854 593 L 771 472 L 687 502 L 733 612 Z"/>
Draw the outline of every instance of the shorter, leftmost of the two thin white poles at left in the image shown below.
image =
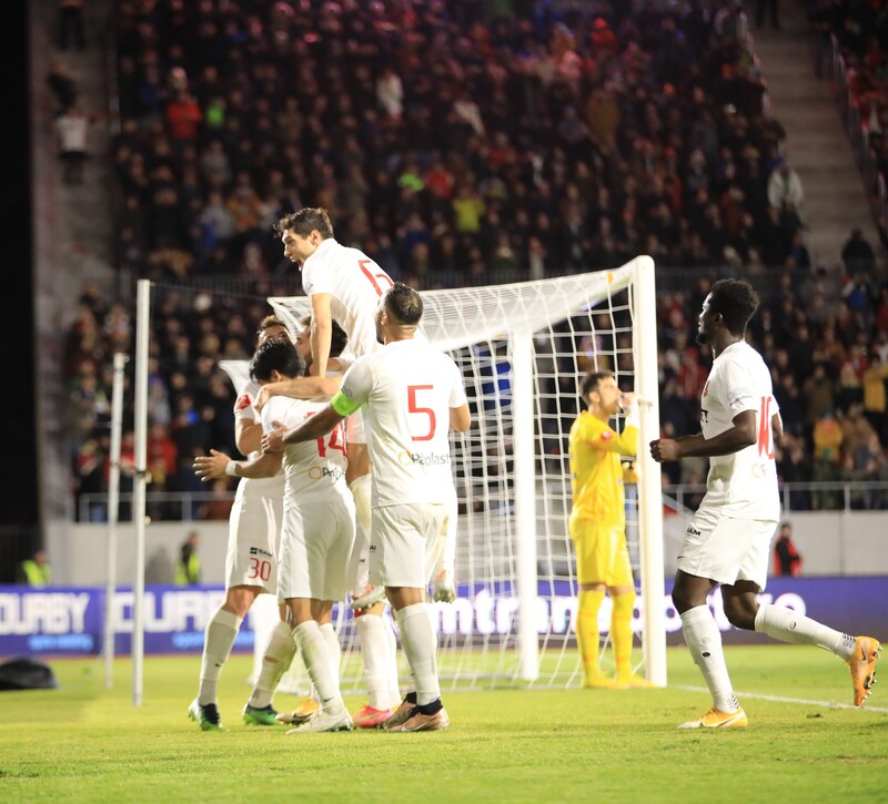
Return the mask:
<path fill-rule="evenodd" d="M 129 358 L 114 353 L 111 386 L 111 467 L 108 476 L 108 566 L 104 584 L 104 688 L 114 685 L 114 594 L 118 572 L 118 515 L 120 512 L 120 430 L 123 423 L 123 366 Z"/>

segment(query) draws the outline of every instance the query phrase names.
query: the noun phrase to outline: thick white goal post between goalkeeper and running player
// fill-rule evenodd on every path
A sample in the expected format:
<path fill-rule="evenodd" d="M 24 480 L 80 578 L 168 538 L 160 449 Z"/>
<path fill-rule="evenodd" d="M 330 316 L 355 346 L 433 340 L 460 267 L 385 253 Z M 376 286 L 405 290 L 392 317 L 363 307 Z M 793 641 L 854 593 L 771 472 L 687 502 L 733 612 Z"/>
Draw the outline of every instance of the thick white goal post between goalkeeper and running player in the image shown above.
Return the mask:
<path fill-rule="evenodd" d="M 654 261 L 634 261 L 634 360 L 639 399 L 638 525 L 640 536 L 642 607 L 645 673 L 657 686 L 666 686 L 666 596 L 663 563 L 663 489 L 660 466 L 648 444 L 659 437 L 659 384 L 657 373 L 657 295 Z"/>

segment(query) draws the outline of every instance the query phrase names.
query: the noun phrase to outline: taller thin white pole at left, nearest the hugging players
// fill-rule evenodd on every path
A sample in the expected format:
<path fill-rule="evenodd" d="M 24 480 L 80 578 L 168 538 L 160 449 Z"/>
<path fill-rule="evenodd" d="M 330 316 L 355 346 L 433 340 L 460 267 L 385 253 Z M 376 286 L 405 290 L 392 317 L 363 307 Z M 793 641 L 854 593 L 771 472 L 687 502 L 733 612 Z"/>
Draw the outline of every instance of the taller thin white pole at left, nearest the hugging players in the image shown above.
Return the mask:
<path fill-rule="evenodd" d="M 151 282 L 139 279 L 135 296 L 135 478 L 132 522 L 135 530 L 135 578 L 132 591 L 132 703 L 142 704 L 145 602 L 145 486 L 148 485 L 148 346 Z"/>

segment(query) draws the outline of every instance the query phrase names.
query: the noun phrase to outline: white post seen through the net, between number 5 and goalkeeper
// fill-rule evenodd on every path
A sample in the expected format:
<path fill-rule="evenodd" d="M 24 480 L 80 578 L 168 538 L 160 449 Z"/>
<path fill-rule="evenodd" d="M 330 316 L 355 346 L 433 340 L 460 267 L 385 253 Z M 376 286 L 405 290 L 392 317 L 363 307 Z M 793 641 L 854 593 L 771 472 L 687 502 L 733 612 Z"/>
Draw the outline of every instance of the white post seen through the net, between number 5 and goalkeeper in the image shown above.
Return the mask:
<path fill-rule="evenodd" d="M 517 538 L 518 654 L 521 678 L 539 675 L 536 630 L 536 460 L 534 457 L 533 336 L 512 335 L 512 416 Z"/>

